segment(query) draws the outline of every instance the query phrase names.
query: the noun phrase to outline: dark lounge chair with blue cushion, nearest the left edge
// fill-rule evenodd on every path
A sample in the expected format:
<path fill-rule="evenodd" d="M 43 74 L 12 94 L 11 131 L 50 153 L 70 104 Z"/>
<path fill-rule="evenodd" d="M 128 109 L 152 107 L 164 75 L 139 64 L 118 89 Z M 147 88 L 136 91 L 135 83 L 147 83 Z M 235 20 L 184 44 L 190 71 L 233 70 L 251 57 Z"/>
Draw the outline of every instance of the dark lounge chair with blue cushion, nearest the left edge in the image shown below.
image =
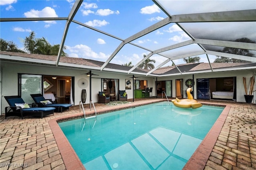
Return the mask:
<path fill-rule="evenodd" d="M 54 114 L 54 107 L 36 107 L 25 103 L 20 96 L 4 96 L 9 107 L 5 107 L 5 119 L 9 116 L 19 116 L 23 119 L 24 116 L 39 116 L 43 118 L 46 115 Z"/>

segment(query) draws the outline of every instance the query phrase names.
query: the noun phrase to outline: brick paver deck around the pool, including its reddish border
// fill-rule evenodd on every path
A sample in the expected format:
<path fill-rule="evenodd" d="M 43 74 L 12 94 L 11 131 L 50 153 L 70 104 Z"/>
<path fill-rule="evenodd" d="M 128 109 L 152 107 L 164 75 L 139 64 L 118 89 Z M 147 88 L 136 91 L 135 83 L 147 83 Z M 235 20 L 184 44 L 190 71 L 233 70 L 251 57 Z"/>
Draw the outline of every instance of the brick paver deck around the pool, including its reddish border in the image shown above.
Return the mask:
<path fill-rule="evenodd" d="M 162 99 L 135 99 L 135 102 L 106 106 L 95 103 L 97 113 Z M 198 102 L 227 105 L 214 127 L 207 134 L 184 170 L 255 170 L 256 169 L 256 105 L 226 101 Z M 92 114 L 89 105 L 86 113 Z M 0 116 L 0 169 L 65 170 L 84 169 L 63 134 L 58 134 L 56 119 L 83 115 L 79 106 L 54 113 L 43 119 L 36 117 Z M 51 121 L 50 121 L 51 120 Z M 50 121 L 50 123 L 49 123 Z M 71 160 L 75 160 L 70 162 Z"/>

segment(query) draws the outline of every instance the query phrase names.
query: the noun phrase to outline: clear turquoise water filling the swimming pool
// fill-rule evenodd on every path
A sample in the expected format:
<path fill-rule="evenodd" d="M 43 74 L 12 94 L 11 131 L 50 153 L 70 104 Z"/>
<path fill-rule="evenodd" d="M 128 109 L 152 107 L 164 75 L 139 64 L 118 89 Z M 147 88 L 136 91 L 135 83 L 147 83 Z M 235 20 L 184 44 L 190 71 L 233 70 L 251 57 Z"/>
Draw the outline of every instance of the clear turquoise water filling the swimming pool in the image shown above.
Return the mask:
<path fill-rule="evenodd" d="M 59 126 L 86 170 L 181 170 L 223 109 L 162 102 Z"/>

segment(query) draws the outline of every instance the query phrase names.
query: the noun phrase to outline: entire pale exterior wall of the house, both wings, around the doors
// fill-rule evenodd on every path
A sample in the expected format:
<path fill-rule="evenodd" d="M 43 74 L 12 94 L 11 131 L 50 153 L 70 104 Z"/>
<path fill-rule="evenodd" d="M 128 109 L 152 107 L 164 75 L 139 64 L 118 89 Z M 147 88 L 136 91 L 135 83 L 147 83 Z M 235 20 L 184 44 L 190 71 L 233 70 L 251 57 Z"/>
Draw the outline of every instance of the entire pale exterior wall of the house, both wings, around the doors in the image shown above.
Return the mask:
<path fill-rule="evenodd" d="M 85 88 L 87 92 L 86 103 L 90 102 L 90 77 L 86 75 L 82 75 L 81 73 L 87 73 L 88 70 L 82 69 L 70 69 L 70 68 L 60 68 L 60 67 L 50 67 L 45 65 L 33 65 L 27 63 L 15 63 L 8 61 L 1 61 L 0 63 L 0 87 L 1 87 L 1 114 L 4 113 L 4 108 L 8 106 L 8 103 L 4 99 L 4 96 L 10 95 L 18 95 L 18 73 L 24 74 L 36 74 L 36 75 L 58 75 L 58 76 L 70 76 L 74 77 L 74 105 L 79 105 L 79 101 L 81 101 L 81 92 L 82 89 L 78 86 L 78 80 L 84 78 L 88 81 L 88 86 Z M 119 79 L 119 89 L 125 90 L 125 79 L 130 79 L 132 81 L 132 75 L 121 74 L 121 73 L 108 73 L 104 71 L 92 71 L 94 74 L 98 74 L 99 76 L 92 76 L 92 101 L 94 103 L 98 102 L 98 91 L 101 91 L 101 78 L 108 79 Z M 241 71 L 225 71 L 225 72 L 214 72 L 214 73 L 200 73 L 194 75 L 195 85 L 196 87 L 196 79 L 199 78 L 216 78 L 216 77 L 236 77 L 236 85 L 237 85 L 237 102 L 245 102 L 244 95 L 244 84 L 242 77 L 246 77 L 247 89 L 249 89 L 250 85 L 250 77 L 255 74 L 254 70 L 241 70 Z M 136 75 L 137 77 L 137 75 Z M 148 87 L 153 87 L 152 95 L 155 96 L 155 77 L 146 77 L 146 76 L 138 76 L 140 80 L 147 80 Z M 183 79 L 183 97 L 186 97 L 185 90 L 187 89 L 185 85 L 186 79 L 192 79 L 192 75 L 178 75 L 178 76 L 170 76 L 170 77 L 158 77 L 158 81 L 164 80 L 172 80 L 172 97 L 176 96 L 176 79 Z M 133 87 L 133 81 L 132 81 Z M 255 89 L 255 88 L 254 88 Z M 128 99 L 133 98 L 132 89 L 126 90 L 128 94 Z M 254 91 L 254 98 L 255 98 Z M 194 98 L 197 99 L 196 93 L 194 93 Z M 255 103 L 255 99 L 253 100 Z"/>

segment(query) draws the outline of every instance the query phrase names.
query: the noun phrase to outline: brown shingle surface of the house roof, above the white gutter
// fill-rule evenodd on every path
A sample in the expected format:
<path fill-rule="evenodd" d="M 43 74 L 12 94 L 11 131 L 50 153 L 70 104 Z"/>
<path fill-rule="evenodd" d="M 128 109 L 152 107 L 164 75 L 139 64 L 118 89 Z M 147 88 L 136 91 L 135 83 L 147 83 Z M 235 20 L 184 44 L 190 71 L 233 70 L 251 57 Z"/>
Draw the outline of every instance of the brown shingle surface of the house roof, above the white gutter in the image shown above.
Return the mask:
<path fill-rule="evenodd" d="M 16 53 L 16 52 L 7 52 L 7 51 L 0 51 L 0 54 L 48 60 L 48 61 L 56 61 L 57 59 L 57 56 L 53 56 L 53 55 Z M 73 58 L 73 57 L 60 57 L 60 62 L 79 64 L 79 65 L 85 65 L 85 66 L 93 66 L 93 67 L 101 67 L 104 64 L 103 61 L 96 61 L 92 59 L 83 59 L 83 58 Z M 253 67 L 253 66 L 256 66 L 256 63 L 211 63 L 211 65 L 212 65 L 212 69 L 224 69 L 224 68 Z M 111 69 L 116 69 L 116 70 L 124 70 L 124 71 L 129 71 L 132 68 L 132 67 L 113 64 L 113 63 L 108 63 L 106 67 Z M 211 69 L 209 63 L 185 63 L 185 64 L 177 65 L 177 67 L 182 73 Z M 170 74 L 180 73 L 178 69 L 175 66 L 160 67 L 156 69 L 152 74 L 170 75 Z M 148 71 L 150 70 L 136 68 L 133 71 L 137 73 L 148 73 Z"/>

